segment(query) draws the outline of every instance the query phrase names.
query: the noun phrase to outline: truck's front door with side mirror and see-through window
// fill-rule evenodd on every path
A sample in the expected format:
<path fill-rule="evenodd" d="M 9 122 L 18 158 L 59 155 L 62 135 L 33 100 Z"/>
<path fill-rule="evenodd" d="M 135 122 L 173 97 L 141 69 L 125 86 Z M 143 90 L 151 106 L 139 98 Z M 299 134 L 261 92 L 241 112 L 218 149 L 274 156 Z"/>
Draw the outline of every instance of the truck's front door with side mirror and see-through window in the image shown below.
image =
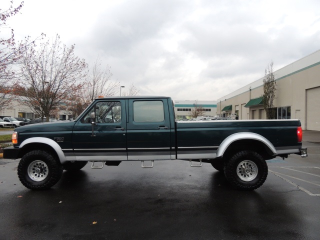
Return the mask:
<path fill-rule="evenodd" d="M 126 160 L 125 101 L 96 101 L 74 125 L 72 142 L 76 160 Z"/>

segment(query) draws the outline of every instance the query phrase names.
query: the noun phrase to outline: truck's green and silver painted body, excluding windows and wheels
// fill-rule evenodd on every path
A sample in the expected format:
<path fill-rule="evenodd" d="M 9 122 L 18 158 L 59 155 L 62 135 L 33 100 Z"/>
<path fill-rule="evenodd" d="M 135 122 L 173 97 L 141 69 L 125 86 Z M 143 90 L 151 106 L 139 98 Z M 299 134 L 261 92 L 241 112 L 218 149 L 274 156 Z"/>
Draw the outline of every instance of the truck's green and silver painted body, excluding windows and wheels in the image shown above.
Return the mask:
<path fill-rule="evenodd" d="M 161 101 L 164 119 L 135 122 L 135 101 Z M 116 101 L 118 122 L 83 123 L 93 104 Z M 74 121 L 25 125 L 15 129 L 17 143 L 4 150 L 4 158 L 19 158 L 28 149 L 44 147 L 66 161 L 122 161 L 214 159 L 234 144 L 263 146 L 268 157 L 301 154 L 297 139 L 299 120 L 175 121 L 170 97 L 108 97 L 95 99 Z M 92 128 L 93 127 L 93 128 Z M 245 146 L 245 145 L 244 145 Z"/>

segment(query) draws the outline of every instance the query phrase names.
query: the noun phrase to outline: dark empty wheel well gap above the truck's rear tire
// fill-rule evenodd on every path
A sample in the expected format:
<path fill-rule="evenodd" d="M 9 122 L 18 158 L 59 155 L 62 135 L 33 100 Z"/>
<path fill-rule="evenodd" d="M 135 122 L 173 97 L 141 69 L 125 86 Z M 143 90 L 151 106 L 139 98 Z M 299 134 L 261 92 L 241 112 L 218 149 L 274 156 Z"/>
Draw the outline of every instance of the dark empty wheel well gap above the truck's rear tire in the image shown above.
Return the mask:
<path fill-rule="evenodd" d="M 273 158 L 272 151 L 261 141 L 254 139 L 243 139 L 233 141 L 224 151 L 223 158 L 228 159 L 240 150 L 252 150 L 259 153 L 263 159 Z"/>

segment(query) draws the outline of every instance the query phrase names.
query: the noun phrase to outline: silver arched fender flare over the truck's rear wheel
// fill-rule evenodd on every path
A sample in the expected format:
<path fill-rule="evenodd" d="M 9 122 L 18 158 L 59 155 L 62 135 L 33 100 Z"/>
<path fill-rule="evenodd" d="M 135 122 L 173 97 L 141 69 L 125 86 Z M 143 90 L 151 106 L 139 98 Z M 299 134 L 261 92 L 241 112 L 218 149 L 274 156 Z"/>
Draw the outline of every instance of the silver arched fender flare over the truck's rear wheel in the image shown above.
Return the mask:
<path fill-rule="evenodd" d="M 252 139 L 252 140 L 258 140 L 260 142 L 262 142 L 264 145 L 266 145 L 270 151 L 273 153 L 273 155 L 276 155 L 276 150 L 274 148 L 274 146 L 272 145 L 272 143 L 266 139 L 264 136 L 261 136 L 257 133 L 253 133 L 253 132 L 237 132 L 234 133 L 232 135 L 229 135 L 227 138 L 225 138 L 221 144 L 219 145 L 215 157 L 221 157 L 224 153 L 224 151 L 226 150 L 226 148 L 234 141 L 237 140 L 245 140 L 245 139 Z"/>

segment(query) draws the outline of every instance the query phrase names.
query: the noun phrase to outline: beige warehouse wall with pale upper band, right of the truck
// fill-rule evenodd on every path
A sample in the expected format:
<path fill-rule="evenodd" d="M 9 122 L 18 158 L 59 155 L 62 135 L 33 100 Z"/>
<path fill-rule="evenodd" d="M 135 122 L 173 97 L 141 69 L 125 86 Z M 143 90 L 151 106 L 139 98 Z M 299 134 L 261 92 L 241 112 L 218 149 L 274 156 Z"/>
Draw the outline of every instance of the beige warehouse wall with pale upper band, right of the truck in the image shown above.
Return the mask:
<path fill-rule="evenodd" d="M 315 102 L 315 104 L 319 104 L 319 110 L 306 112 L 308 104 L 306 101 L 307 90 L 318 87 L 315 90 L 318 89 L 320 94 L 320 50 L 273 73 L 276 80 L 274 107 L 290 106 L 290 118 L 299 119 L 302 129 L 308 129 L 306 125 L 307 116 L 310 118 L 310 116 L 318 115 L 319 122 L 312 122 L 312 130 L 320 130 L 320 102 Z M 218 99 L 217 114 L 223 115 L 225 113 L 227 116 L 235 113 L 236 109 L 238 109 L 238 119 L 266 119 L 263 105 L 256 105 L 250 108 L 244 107 L 250 99 L 261 97 L 262 93 L 263 77 Z M 314 104 L 314 101 L 312 104 Z M 227 105 L 232 105 L 232 110 L 222 112 L 223 107 Z M 310 126 L 311 124 L 309 124 Z"/>

